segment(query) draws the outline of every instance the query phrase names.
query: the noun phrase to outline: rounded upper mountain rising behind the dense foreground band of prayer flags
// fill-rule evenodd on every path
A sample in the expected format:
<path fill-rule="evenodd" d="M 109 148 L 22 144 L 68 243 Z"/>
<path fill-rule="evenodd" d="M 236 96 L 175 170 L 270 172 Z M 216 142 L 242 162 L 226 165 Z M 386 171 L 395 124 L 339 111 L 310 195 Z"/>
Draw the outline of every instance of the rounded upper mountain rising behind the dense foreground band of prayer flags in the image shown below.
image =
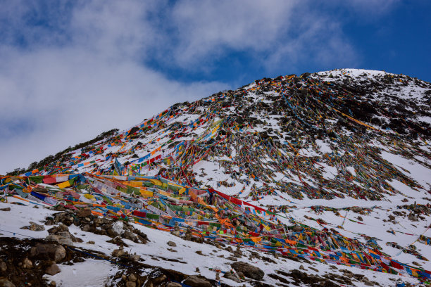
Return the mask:
<path fill-rule="evenodd" d="M 249 200 L 381 200 L 400 192 L 392 181 L 430 190 L 390 162 L 399 156 L 430 169 L 430 102 L 430 83 L 387 72 L 264 78 L 177 103 L 30 170 L 113 174 L 115 158 L 127 174 L 188 181 Z"/>

